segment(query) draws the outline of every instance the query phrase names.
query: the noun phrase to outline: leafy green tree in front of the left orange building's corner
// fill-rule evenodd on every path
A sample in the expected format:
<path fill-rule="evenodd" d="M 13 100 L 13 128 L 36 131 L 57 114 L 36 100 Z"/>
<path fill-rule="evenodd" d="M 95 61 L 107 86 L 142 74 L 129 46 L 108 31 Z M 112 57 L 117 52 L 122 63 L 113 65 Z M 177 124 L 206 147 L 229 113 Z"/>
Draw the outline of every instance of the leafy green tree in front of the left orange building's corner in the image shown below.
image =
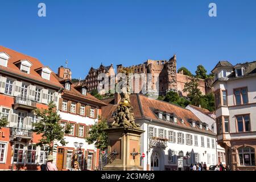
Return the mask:
<path fill-rule="evenodd" d="M 68 142 L 64 139 L 64 134 L 71 133 L 71 125 L 67 125 L 65 130 L 60 125 L 60 115 L 57 114 L 56 105 L 51 101 L 48 109 L 35 109 L 35 115 L 38 116 L 39 122 L 32 123 L 33 131 L 36 134 L 42 134 L 42 138 L 36 143 L 37 146 L 48 144 L 49 153 L 53 151 L 53 141 L 59 141 L 63 146 Z"/>

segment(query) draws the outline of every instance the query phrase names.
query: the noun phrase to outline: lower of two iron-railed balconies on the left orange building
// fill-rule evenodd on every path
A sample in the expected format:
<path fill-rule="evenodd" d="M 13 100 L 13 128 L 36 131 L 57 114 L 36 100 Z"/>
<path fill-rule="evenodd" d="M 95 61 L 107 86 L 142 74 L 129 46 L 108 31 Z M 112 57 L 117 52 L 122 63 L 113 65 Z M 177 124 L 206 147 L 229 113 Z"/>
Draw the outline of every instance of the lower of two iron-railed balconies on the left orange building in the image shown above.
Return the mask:
<path fill-rule="evenodd" d="M 15 138 L 31 139 L 33 138 L 33 132 L 31 129 L 21 128 L 18 126 L 10 127 L 10 140 L 14 140 Z"/>

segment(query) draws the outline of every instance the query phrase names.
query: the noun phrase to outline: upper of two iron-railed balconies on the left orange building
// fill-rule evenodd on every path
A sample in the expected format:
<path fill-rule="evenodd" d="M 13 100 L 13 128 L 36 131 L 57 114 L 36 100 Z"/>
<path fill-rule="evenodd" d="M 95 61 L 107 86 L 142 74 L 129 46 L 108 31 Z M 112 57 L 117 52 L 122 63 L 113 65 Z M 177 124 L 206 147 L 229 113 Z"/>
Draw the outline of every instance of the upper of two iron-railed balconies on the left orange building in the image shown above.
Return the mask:
<path fill-rule="evenodd" d="M 14 101 L 14 109 L 19 108 L 28 109 L 30 111 L 34 110 L 36 109 L 36 101 L 28 97 L 17 96 Z"/>

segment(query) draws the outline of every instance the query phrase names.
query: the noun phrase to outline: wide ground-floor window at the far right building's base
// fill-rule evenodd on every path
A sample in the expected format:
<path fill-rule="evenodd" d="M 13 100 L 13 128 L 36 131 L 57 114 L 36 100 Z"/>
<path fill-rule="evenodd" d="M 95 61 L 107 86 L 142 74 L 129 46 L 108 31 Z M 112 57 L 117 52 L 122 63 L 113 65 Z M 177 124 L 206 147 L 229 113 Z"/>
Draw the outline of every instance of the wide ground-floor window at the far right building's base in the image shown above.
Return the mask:
<path fill-rule="evenodd" d="M 238 148 L 240 166 L 255 166 L 254 148 Z"/>

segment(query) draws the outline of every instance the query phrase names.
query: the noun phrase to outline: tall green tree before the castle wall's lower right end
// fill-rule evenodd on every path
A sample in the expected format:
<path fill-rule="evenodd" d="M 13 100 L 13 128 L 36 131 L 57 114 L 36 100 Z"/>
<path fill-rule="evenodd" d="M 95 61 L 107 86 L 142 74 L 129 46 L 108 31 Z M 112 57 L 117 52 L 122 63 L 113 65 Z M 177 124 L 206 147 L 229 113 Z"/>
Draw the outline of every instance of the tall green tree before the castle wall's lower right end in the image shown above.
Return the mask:
<path fill-rule="evenodd" d="M 202 93 L 198 88 L 198 78 L 192 77 L 190 82 L 185 83 L 183 92 L 188 93 L 188 98 L 192 105 L 199 106 Z"/>

